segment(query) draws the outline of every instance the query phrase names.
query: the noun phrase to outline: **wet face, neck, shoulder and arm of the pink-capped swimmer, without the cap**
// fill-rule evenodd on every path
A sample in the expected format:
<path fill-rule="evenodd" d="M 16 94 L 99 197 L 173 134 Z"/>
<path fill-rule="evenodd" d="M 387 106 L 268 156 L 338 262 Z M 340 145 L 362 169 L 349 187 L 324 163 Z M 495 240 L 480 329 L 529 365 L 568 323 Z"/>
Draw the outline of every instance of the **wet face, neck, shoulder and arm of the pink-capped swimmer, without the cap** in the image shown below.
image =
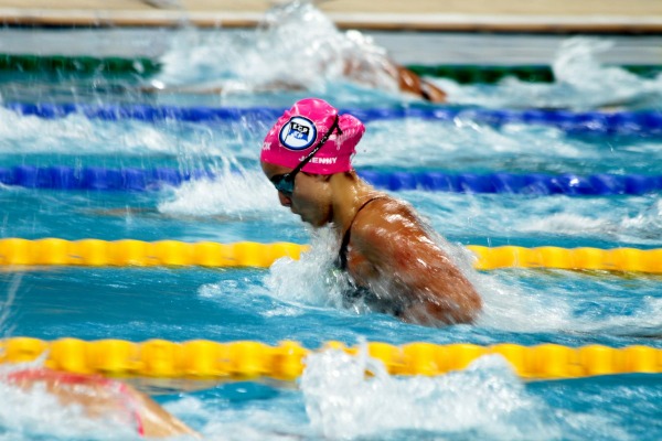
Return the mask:
<path fill-rule="evenodd" d="M 268 179 L 290 171 L 264 162 L 261 166 Z M 351 226 L 346 270 L 382 303 L 376 310 L 430 326 L 470 323 L 480 312 L 480 295 L 414 209 L 375 191 L 354 172 L 299 173 L 292 195 L 279 192 L 278 197 L 313 227 L 331 225 L 339 241 Z"/>

